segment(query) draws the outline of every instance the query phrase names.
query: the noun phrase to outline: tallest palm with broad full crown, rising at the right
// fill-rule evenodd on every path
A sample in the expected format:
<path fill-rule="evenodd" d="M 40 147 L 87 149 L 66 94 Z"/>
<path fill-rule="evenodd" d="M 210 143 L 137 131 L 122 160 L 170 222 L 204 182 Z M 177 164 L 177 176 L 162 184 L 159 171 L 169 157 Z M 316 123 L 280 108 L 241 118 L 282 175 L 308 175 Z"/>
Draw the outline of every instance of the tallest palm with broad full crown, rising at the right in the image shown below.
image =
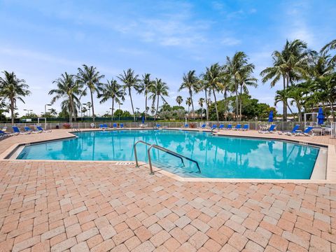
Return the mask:
<path fill-rule="evenodd" d="M 295 39 L 286 41 L 283 50 L 275 50 L 272 53 L 273 66 L 262 70 L 262 82 L 271 81 L 271 87 L 283 79 L 283 90 L 292 85 L 295 81 L 304 78 L 307 75 L 307 66 L 311 51 L 307 50 L 307 43 Z M 283 100 L 283 121 L 287 120 L 287 100 Z"/>

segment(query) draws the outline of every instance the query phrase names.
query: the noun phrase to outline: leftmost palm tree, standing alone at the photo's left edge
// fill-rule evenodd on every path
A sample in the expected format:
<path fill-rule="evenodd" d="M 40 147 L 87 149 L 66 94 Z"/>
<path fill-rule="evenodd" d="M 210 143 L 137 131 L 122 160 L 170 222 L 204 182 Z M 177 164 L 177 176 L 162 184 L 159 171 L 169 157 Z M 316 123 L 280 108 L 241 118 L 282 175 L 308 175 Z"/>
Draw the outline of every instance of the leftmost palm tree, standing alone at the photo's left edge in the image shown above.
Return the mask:
<path fill-rule="evenodd" d="M 31 92 L 27 90 L 29 85 L 26 84 L 26 81 L 17 78 L 14 72 L 9 73 L 8 71 L 3 71 L 2 73 L 5 76 L 4 78 L 0 77 L 0 93 L 3 99 L 9 100 L 10 115 L 12 123 L 14 123 L 16 101 L 20 100 L 25 103 L 22 97 L 26 97 L 31 94 Z"/>

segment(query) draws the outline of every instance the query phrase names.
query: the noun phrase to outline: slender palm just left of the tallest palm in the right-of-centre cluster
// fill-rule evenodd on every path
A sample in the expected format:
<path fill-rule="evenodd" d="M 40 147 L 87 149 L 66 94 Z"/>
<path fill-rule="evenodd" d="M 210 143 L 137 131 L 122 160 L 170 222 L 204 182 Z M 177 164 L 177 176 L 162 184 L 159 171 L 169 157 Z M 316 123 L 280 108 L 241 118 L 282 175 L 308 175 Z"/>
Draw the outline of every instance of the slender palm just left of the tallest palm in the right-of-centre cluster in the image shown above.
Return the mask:
<path fill-rule="evenodd" d="M 216 92 L 218 92 L 219 86 L 221 85 L 221 82 L 222 82 L 223 73 L 221 70 L 222 70 L 221 66 L 219 66 L 218 63 L 216 63 L 216 64 L 211 65 L 210 68 L 207 67 L 207 71 L 203 74 L 203 80 L 204 80 L 205 87 L 208 87 L 209 90 L 211 90 L 212 93 L 214 94 L 217 121 L 219 121 L 219 115 L 218 115 L 218 108 L 217 108 Z M 208 110 L 209 108 L 207 108 L 207 111 Z M 208 119 L 209 118 L 207 118 L 207 120 Z"/>

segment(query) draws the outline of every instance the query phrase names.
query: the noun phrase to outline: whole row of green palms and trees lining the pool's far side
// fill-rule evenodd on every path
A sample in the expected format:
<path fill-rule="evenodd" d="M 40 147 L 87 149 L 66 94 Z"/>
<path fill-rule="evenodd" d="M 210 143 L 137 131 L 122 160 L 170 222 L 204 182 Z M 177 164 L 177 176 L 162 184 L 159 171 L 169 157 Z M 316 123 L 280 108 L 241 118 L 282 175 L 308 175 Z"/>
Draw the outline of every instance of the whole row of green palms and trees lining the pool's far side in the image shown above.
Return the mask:
<path fill-rule="evenodd" d="M 319 51 L 308 48 L 307 43 L 301 40 L 286 41 L 281 50 L 272 53 L 272 66 L 263 69 L 260 73 L 262 83 L 270 82 L 274 87 L 276 83 L 282 83 L 283 88 L 276 91 L 274 106 L 281 102 L 283 104 L 283 120 L 288 118 L 288 110 L 293 114 L 291 106 L 297 107 L 297 120 L 302 120 L 304 112 L 312 111 L 316 106 L 330 108 L 331 115 L 335 121 L 335 111 L 333 105 L 336 102 L 336 55 L 330 52 L 336 49 L 336 39 L 330 41 Z M 196 74 L 195 70 L 184 73 L 179 91 L 187 90 L 186 105 L 188 106 L 188 116 L 195 119 L 194 94 L 203 93 L 204 97 L 198 100 L 198 105 L 206 112 L 209 120 L 209 113 L 214 107 L 216 120 L 220 119 L 219 113 L 234 120 L 242 120 L 244 117 L 243 103 L 248 97 L 248 89 L 258 86 L 258 79 L 253 76 L 255 65 L 249 62 L 245 52 L 235 52 L 232 57 L 226 57 L 224 64 L 215 63 L 206 67 L 203 73 Z M 15 117 L 17 100 L 24 102 L 23 98 L 31 94 L 29 85 L 25 80 L 19 79 L 15 73 L 3 71 L 0 77 L 0 112 L 10 111 L 12 123 Z M 134 73 L 134 70 L 127 69 L 116 78 L 103 81 L 105 76 L 94 66 L 83 64 L 78 68 L 78 73 L 62 73 L 59 78 L 52 83 L 56 87 L 48 92 L 52 95 L 51 104 L 62 99 L 61 109 L 69 114 L 69 120 L 76 120 L 78 111 L 82 111 L 83 104 L 80 100 L 90 95 L 88 104 L 92 110 L 92 120 L 94 121 L 94 97 L 99 99 L 99 103 L 111 100 L 112 118 L 114 106 L 125 101 L 125 97 L 130 97 L 132 115 L 135 120 L 134 104 L 132 92 L 144 95 L 145 111 L 158 119 L 160 100 L 163 102 L 161 108 L 167 105 L 165 97 L 168 96 L 169 87 L 161 78 L 152 78 L 151 73 L 144 73 L 141 77 Z M 219 98 L 219 100 L 218 100 Z M 151 106 L 149 105 L 151 101 Z M 183 104 L 183 97 L 176 97 L 176 103 Z M 204 105 L 206 108 L 204 108 Z M 218 106 L 220 108 L 218 109 Z M 232 106 L 234 106 L 232 108 Z M 191 107 L 191 111 L 190 111 Z M 180 111 L 181 112 L 181 111 Z M 246 112 L 245 112 L 246 113 Z M 161 116 L 165 117 L 164 113 Z"/>

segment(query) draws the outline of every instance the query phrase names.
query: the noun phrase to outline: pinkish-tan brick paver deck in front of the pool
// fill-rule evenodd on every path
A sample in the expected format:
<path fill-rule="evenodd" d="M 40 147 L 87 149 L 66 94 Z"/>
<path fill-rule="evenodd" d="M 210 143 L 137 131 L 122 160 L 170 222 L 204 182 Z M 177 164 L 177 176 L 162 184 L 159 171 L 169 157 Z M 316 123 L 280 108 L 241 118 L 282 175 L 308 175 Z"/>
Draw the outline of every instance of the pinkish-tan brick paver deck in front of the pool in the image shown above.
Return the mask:
<path fill-rule="evenodd" d="M 0 251 L 336 251 L 336 185 L 194 183 L 111 162 L 0 161 Z"/>

